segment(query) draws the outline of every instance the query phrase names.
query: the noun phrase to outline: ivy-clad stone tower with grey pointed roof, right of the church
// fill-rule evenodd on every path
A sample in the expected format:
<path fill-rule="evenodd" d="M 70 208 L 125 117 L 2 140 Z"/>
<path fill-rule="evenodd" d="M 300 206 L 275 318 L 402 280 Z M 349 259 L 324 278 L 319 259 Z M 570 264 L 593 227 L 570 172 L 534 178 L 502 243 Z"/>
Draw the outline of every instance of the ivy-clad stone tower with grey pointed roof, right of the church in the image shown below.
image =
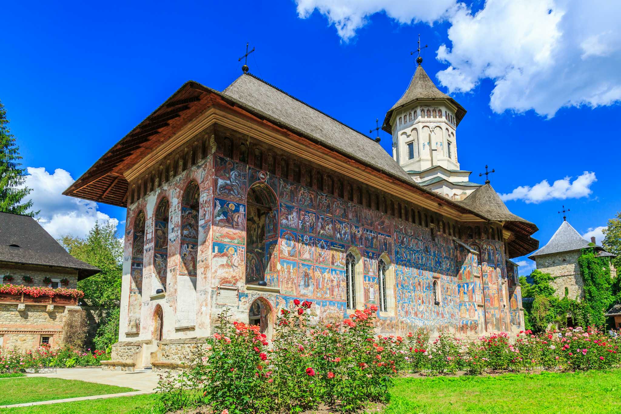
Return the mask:
<path fill-rule="evenodd" d="M 591 238 L 595 245 L 595 238 Z M 589 247 L 586 241 L 568 221 L 564 220 L 556 230 L 550 241 L 531 254 L 537 264 L 537 269 L 552 276 L 551 286 L 556 289 L 556 296 L 569 297 L 569 299 L 582 299 L 584 297 L 584 278 L 578 264 L 578 258 L 582 249 Z M 600 246 L 594 246 L 597 255 L 601 257 L 614 257 Z M 617 271 L 609 260 L 610 276 L 616 277 Z"/>

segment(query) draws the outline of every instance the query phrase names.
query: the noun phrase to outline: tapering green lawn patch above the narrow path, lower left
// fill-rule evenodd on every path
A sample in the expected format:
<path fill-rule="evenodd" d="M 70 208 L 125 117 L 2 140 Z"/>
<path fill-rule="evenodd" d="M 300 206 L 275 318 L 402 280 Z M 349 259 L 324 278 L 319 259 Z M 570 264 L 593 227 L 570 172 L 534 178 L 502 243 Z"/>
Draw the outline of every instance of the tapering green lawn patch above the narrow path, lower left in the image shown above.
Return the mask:
<path fill-rule="evenodd" d="M 2 387 L 0 405 L 135 391 L 128 387 L 117 387 L 116 385 L 46 377 L 3 379 L 0 382 L 0 387 Z"/>

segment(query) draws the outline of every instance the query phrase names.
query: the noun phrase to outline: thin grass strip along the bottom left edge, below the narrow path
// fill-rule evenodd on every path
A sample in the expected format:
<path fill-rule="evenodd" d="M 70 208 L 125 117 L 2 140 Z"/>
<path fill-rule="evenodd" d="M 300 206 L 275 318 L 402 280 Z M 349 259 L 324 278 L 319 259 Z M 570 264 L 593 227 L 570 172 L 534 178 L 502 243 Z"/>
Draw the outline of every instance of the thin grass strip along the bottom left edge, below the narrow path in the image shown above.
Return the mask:
<path fill-rule="evenodd" d="M 32 405 L 31 407 L 0 408 L 4 414 L 133 414 L 149 413 L 155 405 L 154 394 L 132 395 L 131 397 L 102 398 L 101 400 L 85 400 L 63 402 L 57 404 Z"/>

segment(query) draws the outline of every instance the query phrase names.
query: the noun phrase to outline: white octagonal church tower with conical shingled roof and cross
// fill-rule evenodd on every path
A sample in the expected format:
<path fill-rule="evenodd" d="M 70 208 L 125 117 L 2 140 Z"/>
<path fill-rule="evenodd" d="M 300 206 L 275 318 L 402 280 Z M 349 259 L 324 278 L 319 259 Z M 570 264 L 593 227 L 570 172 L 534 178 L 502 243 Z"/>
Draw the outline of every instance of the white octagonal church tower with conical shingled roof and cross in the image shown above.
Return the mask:
<path fill-rule="evenodd" d="M 455 130 L 466 110 L 441 92 L 417 58 L 406 92 L 386 114 L 382 129 L 392 135 L 392 157 L 421 186 L 463 200 L 481 184 L 460 168 Z"/>

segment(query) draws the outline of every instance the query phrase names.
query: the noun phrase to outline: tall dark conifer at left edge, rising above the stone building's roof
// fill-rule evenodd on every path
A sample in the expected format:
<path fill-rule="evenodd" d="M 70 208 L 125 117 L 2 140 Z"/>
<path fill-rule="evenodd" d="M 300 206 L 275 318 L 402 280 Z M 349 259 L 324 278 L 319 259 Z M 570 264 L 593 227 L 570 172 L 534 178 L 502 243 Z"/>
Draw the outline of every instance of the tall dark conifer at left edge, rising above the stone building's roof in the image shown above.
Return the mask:
<path fill-rule="evenodd" d="M 22 202 L 32 189 L 24 186 L 25 169 L 21 168 L 19 146 L 9 129 L 6 110 L 0 102 L 0 212 L 34 217 L 39 212 L 28 212 L 32 200 Z"/>

